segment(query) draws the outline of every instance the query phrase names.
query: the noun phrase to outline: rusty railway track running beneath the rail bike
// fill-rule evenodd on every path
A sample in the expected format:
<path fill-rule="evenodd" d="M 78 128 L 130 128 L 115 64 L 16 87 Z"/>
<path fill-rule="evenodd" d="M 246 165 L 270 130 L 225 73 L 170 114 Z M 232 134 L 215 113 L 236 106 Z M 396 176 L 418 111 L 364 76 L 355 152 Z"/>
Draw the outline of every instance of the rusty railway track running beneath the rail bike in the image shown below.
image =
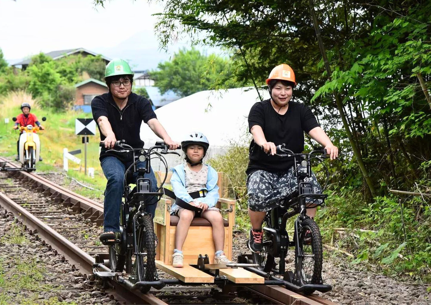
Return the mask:
<path fill-rule="evenodd" d="M 0 157 L 0 162 L 4 161 L 7 160 Z M 10 163 L 10 166 L 18 167 L 13 163 Z M 20 194 L 14 194 L 13 186 L 0 181 L 0 189 L 6 189 L 8 193 L 6 196 L 0 192 L 0 203 L 6 210 L 12 212 L 30 230 L 37 233 L 47 245 L 61 252 L 65 259 L 77 266 L 82 273 L 92 274 L 94 266 L 97 266 L 99 271 L 111 271 L 103 264 L 97 264 L 97 261 L 101 260 L 97 259 L 98 256 L 106 257 L 106 246 L 100 245 L 97 240 L 100 225 L 103 223 L 103 204 L 78 195 L 34 173 L 14 171 L 11 175 L 14 179 L 19 179 L 22 184 L 43 193 L 44 196 L 52 199 L 52 202 L 48 204 L 43 198 L 38 198 L 37 202 L 22 200 Z M 15 199 L 9 197 L 15 197 Z M 96 238 L 90 236 L 96 236 Z M 131 291 L 129 289 L 132 284 L 123 275 L 107 277 L 106 280 L 112 286 L 107 289 L 107 292 L 112 293 L 119 302 L 167 304 L 161 299 L 178 299 L 178 296 L 167 298 L 164 290 L 152 291 L 155 295 L 160 294 L 161 299 L 151 293 Z M 182 291 L 185 287 L 176 288 Z M 334 304 L 315 294 L 303 296 L 280 286 L 231 286 L 232 291 L 236 289 L 238 293 L 241 290 L 247 291 L 248 294 L 253 292 L 256 296 L 269 300 L 271 304 Z"/>

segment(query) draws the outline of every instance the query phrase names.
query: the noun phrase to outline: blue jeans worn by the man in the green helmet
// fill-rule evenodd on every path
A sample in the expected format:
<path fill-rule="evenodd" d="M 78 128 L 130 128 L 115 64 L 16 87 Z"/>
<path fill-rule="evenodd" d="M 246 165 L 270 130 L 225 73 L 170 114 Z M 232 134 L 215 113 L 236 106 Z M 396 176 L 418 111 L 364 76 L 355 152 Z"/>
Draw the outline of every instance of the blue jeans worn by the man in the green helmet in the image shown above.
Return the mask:
<path fill-rule="evenodd" d="M 123 163 L 116 157 L 105 157 L 100 161 L 103 173 L 108 182 L 106 183 L 105 201 L 103 203 L 103 231 L 104 232 L 119 232 L 120 231 L 120 205 L 124 193 L 124 173 L 131 165 L 131 162 Z M 139 161 L 136 167 L 145 167 L 146 162 Z M 131 169 L 133 170 L 133 169 Z M 137 173 L 134 173 L 133 178 L 136 179 Z M 156 192 L 157 181 L 154 176 L 153 169 L 149 174 L 144 175 L 145 178 L 151 181 L 151 192 Z M 153 197 L 148 203 L 145 211 L 154 217 L 156 211 L 157 197 Z"/>

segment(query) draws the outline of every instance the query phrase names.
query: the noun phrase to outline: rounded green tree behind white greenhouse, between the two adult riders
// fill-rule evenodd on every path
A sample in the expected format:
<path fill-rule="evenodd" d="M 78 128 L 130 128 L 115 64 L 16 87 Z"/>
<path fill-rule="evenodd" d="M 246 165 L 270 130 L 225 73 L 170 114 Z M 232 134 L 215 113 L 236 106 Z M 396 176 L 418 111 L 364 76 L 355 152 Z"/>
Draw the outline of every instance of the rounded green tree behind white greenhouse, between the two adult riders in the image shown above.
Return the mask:
<path fill-rule="evenodd" d="M 211 54 L 205 56 L 199 50 L 184 48 L 175 53 L 171 61 L 159 63 L 158 71 L 150 72 L 163 94 L 172 90 L 181 96 L 212 88 L 232 88 L 228 70 L 229 61 Z"/>

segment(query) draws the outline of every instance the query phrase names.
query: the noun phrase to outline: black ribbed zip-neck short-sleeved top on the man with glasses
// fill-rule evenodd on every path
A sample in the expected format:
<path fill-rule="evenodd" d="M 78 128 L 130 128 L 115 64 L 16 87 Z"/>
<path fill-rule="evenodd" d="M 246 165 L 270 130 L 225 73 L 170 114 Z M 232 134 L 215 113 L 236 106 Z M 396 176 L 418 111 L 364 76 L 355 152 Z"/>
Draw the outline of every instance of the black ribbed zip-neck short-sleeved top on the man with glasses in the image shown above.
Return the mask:
<path fill-rule="evenodd" d="M 91 101 L 91 111 L 93 118 L 97 123 L 100 116 L 106 116 L 111 124 L 112 131 L 115 134 L 117 141 L 125 140 L 126 144 L 133 148 L 142 148 L 144 141 L 141 140 L 139 135 L 141 130 L 141 123 L 147 123 L 150 119 L 156 118 L 151 107 L 150 101 L 145 97 L 131 93 L 127 100 L 126 107 L 120 110 L 115 101 L 112 99 L 111 93 L 105 93 L 94 97 Z M 99 127 L 99 125 L 97 125 Z M 106 137 L 100 131 L 100 141 Z M 100 151 L 100 160 L 107 156 L 114 156 L 123 162 L 131 161 L 131 154 L 127 153 L 106 153 L 107 149 L 102 147 Z"/>

